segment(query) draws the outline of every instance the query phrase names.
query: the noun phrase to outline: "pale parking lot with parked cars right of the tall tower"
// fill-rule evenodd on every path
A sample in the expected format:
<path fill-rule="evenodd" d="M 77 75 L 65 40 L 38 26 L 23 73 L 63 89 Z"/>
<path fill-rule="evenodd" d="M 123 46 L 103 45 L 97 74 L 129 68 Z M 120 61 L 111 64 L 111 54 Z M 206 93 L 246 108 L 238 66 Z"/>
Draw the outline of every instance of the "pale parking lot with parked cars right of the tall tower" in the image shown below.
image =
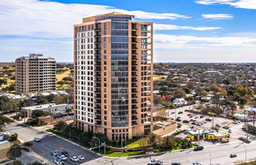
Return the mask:
<path fill-rule="evenodd" d="M 192 107 L 192 106 L 191 106 Z M 228 131 L 231 130 L 230 133 L 230 141 L 238 140 L 239 137 L 244 137 L 245 132 L 242 131 L 242 122 L 238 124 L 233 124 L 233 120 L 229 118 L 221 118 L 221 117 L 214 117 L 212 118 L 212 115 L 202 115 L 191 113 L 191 112 L 185 112 L 188 111 L 189 106 L 186 107 L 179 107 L 173 110 L 166 110 L 168 112 L 167 117 L 172 118 L 173 120 L 176 120 L 177 117 L 181 119 L 181 121 L 177 121 L 178 123 L 181 123 L 182 125 L 187 125 L 188 127 L 194 126 L 201 129 L 211 129 L 212 126 L 215 127 L 215 124 L 219 124 L 220 130 Z M 182 112 L 182 113 L 179 113 Z M 209 118 L 211 121 L 206 121 L 206 118 Z M 187 120 L 188 123 L 184 123 L 183 121 Z M 201 123 L 201 125 L 192 124 L 192 120 L 197 120 Z M 229 129 L 224 129 L 224 126 L 228 126 Z"/>

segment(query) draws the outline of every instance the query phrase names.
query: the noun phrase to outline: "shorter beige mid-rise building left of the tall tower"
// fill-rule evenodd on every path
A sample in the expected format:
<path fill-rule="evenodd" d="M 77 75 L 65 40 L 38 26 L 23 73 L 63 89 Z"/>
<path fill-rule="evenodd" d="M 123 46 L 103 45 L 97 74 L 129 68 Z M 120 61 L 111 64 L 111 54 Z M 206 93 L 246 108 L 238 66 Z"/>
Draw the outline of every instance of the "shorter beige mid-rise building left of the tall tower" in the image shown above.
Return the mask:
<path fill-rule="evenodd" d="M 56 60 L 42 54 L 29 54 L 15 60 L 15 94 L 56 90 Z"/>

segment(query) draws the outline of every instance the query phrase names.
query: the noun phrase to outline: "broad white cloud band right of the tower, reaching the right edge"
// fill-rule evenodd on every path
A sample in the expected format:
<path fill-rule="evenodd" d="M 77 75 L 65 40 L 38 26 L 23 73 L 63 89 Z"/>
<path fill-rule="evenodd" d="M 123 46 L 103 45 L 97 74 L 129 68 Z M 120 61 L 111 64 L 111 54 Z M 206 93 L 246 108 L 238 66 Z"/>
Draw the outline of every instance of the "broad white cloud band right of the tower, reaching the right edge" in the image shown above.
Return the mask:
<path fill-rule="evenodd" d="M 160 49 L 206 49 L 207 47 L 255 47 L 252 37 L 197 37 L 190 35 L 155 34 L 155 48 Z"/>

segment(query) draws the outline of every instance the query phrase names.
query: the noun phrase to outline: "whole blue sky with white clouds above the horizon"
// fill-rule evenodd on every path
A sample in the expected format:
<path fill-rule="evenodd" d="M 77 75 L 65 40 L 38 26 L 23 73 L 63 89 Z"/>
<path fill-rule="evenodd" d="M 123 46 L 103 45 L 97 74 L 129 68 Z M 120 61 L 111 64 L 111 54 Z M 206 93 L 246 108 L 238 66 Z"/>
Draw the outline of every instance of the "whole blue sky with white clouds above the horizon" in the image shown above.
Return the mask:
<path fill-rule="evenodd" d="M 110 12 L 154 23 L 154 62 L 256 62 L 256 0 L 0 0 L 0 62 L 73 62 L 74 25 Z"/>

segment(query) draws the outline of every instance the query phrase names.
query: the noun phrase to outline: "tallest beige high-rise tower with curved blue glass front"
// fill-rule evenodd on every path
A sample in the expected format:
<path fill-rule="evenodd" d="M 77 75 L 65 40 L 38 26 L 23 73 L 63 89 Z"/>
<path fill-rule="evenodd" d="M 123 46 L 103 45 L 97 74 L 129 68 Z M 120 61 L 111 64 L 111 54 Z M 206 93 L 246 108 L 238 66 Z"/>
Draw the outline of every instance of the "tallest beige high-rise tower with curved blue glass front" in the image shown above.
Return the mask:
<path fill-rule="evenodd" d="M 74 112 L 110 140 L 152 133 L 153 23 L 106 13 L 74 26 Z"/>

